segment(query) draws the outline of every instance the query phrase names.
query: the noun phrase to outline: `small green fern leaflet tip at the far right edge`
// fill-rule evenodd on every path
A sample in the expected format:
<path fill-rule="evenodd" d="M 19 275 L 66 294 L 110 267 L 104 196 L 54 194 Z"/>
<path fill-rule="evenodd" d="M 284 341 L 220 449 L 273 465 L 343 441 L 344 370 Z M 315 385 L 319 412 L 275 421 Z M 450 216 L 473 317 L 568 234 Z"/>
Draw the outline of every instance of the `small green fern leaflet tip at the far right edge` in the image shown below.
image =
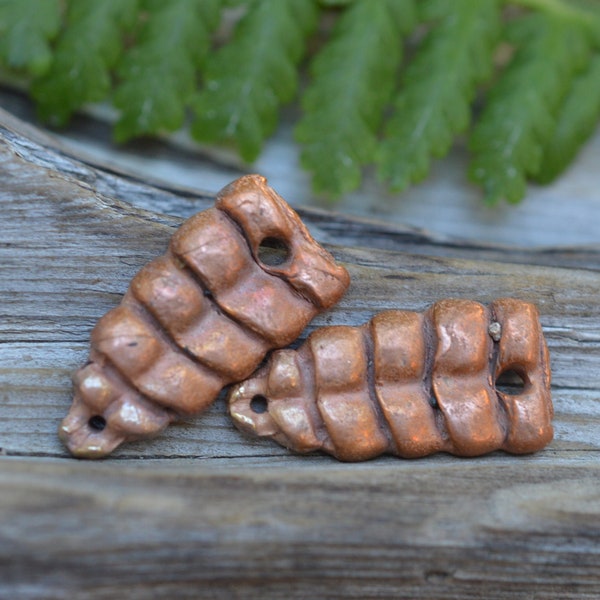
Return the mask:
<path fill-rule="evenodd" d="M 578 75 L 558 113 L 558 123 L 542 154 L 538 183 L 549 183 L 571 163 L 600 119 L 600 55 Z"/>

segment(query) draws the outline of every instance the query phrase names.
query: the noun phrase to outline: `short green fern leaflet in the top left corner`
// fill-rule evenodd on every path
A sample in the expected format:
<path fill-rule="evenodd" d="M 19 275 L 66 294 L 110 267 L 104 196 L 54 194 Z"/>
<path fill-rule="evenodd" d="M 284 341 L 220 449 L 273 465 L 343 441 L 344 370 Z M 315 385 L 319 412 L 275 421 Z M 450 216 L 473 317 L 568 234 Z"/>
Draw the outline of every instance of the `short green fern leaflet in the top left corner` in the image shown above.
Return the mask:
<path fill-rule="evenodd" d="M 0 0 L 0 62 L 30 75 L 44 73 L 60 21 L 59 0 Z"/>

